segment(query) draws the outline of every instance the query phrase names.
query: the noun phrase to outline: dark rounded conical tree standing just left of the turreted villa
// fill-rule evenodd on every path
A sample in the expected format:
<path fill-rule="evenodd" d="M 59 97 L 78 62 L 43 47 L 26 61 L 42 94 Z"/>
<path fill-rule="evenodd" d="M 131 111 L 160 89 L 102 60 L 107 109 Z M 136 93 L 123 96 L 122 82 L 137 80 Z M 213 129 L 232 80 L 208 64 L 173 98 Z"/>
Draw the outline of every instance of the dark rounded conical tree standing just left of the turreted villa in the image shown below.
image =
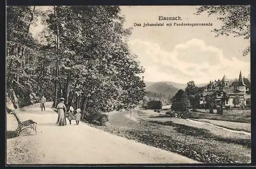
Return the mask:
<path fill-rule="evenodd" d="M 185 91 L 182 89 L 178 90 L 172 99 L 171 109 L 174 111 L 179 111 L 182 114 L 187 114 L 189 112 L 190 103 L 187 98 Z"/>

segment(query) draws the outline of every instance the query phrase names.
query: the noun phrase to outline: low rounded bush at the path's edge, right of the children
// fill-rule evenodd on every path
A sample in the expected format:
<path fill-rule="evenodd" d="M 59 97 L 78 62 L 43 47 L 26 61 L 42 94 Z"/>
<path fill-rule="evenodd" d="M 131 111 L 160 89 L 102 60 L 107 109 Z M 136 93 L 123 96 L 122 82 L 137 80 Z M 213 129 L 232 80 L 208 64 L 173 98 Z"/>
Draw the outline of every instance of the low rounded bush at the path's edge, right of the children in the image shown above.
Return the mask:
<path fill-rule="evenodd" d="M 106 122 L 108 122 L 108 115 L 103 114 L 97 109 L 89 109 L 83 117 L 84 120 L 86 120 L 88 123 L 96 124 L 96 125 L 104 125 Z"/>

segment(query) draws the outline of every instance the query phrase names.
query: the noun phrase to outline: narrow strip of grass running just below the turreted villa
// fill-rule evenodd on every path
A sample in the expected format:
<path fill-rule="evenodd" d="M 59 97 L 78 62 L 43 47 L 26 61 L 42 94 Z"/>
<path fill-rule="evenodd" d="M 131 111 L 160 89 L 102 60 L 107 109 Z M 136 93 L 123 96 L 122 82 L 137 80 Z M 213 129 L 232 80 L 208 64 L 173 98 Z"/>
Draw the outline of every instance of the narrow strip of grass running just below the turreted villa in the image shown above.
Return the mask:
<path fill-rule="evenodd" d="M 239 122 L 239 123 L 251 123 L 251 118 L 244 115 L 227 115 L 227 114 L 210 114 L 201 112 L 192 112 L 190 118 L 207 118 L 216 119 L 229 122 Z"/>

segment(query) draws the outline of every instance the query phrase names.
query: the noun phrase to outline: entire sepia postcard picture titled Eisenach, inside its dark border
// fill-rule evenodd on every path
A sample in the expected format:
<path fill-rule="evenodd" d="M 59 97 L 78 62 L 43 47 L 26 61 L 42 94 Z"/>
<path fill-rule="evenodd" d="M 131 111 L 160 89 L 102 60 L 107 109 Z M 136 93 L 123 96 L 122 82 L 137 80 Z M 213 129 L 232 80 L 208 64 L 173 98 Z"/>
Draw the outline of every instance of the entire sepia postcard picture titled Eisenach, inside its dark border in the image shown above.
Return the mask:
<path fill-rule="evenodd" d="M 251 163 L 250 6 L 6 6 L 6 165 Z"/>

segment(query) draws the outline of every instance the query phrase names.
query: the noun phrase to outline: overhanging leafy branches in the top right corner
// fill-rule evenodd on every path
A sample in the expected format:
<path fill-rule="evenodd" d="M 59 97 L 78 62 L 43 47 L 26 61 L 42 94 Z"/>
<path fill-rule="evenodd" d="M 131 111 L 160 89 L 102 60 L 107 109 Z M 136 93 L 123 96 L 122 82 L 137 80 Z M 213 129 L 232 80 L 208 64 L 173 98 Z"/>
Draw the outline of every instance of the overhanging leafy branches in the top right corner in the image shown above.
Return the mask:
<path fill-rule="evenodd" d="M 250 39 L 250 6 L 248 5 L 232 5 L 232 6 L 201 6 L 197 9 L 196 14 L 199 15 L 207 12 L 208 16 L 218 14 L 219 20 L 223 22 L 220 29 L 214 29 L 216 36 L 232 34 L 234 37 L 241 36 L 246 40 Z M 247 56 L 250 52 L 250 46 L 243 51 L 243 56 Z"/>

